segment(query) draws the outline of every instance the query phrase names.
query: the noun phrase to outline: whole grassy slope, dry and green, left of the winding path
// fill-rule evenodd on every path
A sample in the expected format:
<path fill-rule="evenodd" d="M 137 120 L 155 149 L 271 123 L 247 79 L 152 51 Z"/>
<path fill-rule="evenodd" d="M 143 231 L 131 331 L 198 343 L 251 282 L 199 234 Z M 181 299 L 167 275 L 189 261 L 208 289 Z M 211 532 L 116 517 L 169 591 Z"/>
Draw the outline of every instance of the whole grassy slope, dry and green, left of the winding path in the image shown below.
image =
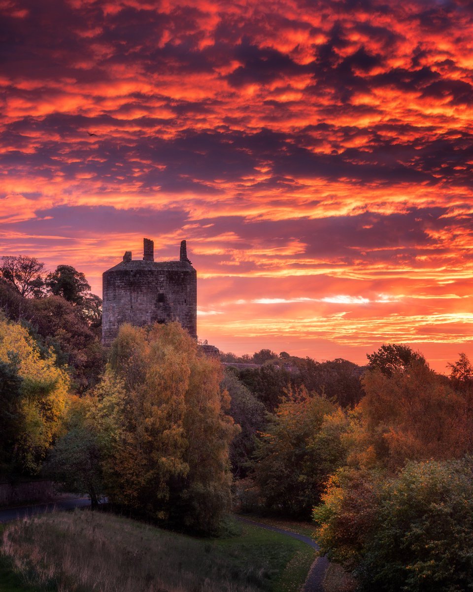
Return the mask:
<path fill-rule="evenodd" d="M 4 527 L 0 592 L 296 592 L 309 546 L 251 525 L 197 539 L 90 511 Z"/>

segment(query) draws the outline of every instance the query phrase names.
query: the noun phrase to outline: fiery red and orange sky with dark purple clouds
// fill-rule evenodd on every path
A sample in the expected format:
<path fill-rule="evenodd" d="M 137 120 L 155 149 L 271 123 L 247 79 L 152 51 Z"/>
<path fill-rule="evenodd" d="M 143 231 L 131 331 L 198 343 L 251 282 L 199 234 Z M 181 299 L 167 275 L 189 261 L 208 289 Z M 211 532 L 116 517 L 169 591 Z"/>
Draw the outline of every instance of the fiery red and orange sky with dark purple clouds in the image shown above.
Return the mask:
<path fill-rule="evenodd" d="M 0 0 L 0 253 L 101 295 L 197 269 L 198 333 L 473 357 L 469 0 Z"/>

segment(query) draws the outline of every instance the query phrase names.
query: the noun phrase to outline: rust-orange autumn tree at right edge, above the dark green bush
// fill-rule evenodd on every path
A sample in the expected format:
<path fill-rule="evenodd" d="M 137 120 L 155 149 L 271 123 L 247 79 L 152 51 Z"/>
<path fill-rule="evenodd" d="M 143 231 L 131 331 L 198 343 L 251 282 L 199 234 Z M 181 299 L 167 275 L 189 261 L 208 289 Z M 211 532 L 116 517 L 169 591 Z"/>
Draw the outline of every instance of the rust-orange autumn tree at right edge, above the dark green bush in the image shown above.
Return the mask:
<path fill-rule="evenodd" d="M 375 368 L 363 379 L 360 404 L 377 458 L 388 468 L 407 459 L 460 458 L 473 452 L 468 401 L 425 361 L 393 369 Z"/>

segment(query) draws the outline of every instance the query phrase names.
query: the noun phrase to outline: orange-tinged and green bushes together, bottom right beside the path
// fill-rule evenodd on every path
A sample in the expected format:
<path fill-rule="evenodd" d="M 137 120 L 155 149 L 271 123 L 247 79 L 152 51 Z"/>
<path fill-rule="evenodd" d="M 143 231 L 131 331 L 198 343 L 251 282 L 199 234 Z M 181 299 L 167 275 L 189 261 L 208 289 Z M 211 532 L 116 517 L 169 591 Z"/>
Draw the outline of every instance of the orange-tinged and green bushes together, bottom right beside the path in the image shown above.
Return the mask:
<path fill-rule="evenodd" d="M 396 477 L 351 471 L 329 485 L 319 540 L 362 590 L 473 589 L 473 464 L 409 462 Z"/>

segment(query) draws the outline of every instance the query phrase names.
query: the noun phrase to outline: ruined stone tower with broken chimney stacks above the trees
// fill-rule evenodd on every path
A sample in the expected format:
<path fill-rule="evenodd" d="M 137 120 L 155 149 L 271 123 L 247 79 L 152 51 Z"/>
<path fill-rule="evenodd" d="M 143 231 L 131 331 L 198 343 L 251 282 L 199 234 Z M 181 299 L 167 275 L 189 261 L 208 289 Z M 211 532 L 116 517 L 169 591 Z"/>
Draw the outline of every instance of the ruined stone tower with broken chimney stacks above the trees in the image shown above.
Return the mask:
<path fill-rule="evenodd" d="M 102 342 L 110 345 L 122 323 L 143 326 L 179 321 L 197 339 L 197 272 L 181 242 L 179 261 L 155 262 L 154 244 L 144 239 L 142 260 L 131 251 L 105 271 L 103 278 Z"/>

